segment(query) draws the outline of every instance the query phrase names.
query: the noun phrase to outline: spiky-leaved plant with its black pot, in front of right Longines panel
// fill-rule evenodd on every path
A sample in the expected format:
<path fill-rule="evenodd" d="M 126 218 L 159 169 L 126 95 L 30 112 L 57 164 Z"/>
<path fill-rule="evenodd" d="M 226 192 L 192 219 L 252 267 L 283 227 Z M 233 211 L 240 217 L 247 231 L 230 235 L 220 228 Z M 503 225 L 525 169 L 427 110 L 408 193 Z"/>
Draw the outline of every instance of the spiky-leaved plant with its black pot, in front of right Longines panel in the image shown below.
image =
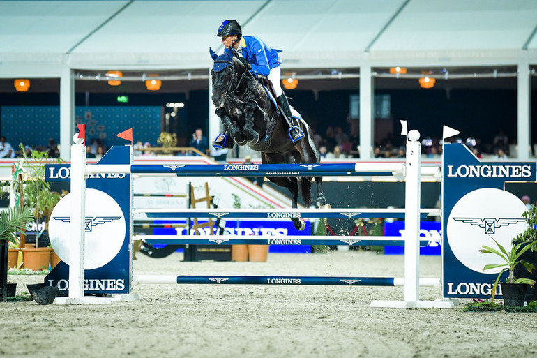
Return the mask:
<path fill-rule="evenodd" d="M 492 287 L 492 297 L 490 301 L 494 302 L 494 296 L 496 294 L 496 288 L 500 281 L 501 274 L 503 274 L 505 271 L 509 271 L 509 275 L 506 279 L 505 283 L 501 283 L 501 292 L 504 295 L 504 304 L 506 306 L 524 306 L 524 297 L 527 290 L 527 285 L 535 285 L 535 281 L 531 280 L 531 278 L 525 278 L 515 277 L 515 269 L 519 264 L 522 264 L 524 268 L 527 269 L 527 271 L 531 272 L 535 269 L 535 266 L 533 264 L 530 264 L 529 262 L 526 262 L 524 260 L 520 260 L 520 256 L 533 248 L 537 241 L 532 242 L 531 244 L 527 244 L 524 242 L 516 242 L 513 240 L 511 244 L 510 251 L 506 251 L 504 246 L 501 246 L 501 244 L 498 243 L 498 241 L 494 240 L 494 238 L 491 237 L 491 239 L 494 241 L 494 243 L 497 245 L 498 249 L 492 248 L 490 246 L 483 245 L 483 248 L 481 248 L 481 253 L 493 253 L 495 255 L 498 255 L 502 260 L 504 260 L 504 263 L 501 264 L 485 264 L 485 267 L 483 267 L 483 271 L 487 269 L 497 269 L 499 267 L 503 267 L 501 271 L 499 272 L 496 281 L 494 281 L 494 286 Z"/>

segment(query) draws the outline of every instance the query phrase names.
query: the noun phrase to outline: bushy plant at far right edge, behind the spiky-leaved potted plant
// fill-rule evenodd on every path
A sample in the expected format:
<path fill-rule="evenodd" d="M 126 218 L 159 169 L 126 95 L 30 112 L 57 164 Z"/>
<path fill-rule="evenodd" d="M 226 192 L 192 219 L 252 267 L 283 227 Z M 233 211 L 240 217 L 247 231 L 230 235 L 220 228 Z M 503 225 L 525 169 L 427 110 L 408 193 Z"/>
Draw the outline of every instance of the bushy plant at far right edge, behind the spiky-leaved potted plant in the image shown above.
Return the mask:
<path fill-rule="evenodd" d="M 526 219 L 528 227 L 522 234 L 517 235 L 513 241 L 517 243 L 524 243 L 523 246 L 529 245 L 537 241 L 537 207 L 531 205 L 531 209 L 524 211 L 522 217 Z M 531 249 L 524 251 L 520 256 L 520 260 L 524 260 L 537 267 L 537 245 L 531 246 Z M 519 266 L 515 270 L 515 276 L 531 278 L 531 280 L 537 281 L 537 270 L 529 272 L 524 266 Z M 528 288 L 526 292 L 526 301 L 537 301 L 537 287 Z"/>

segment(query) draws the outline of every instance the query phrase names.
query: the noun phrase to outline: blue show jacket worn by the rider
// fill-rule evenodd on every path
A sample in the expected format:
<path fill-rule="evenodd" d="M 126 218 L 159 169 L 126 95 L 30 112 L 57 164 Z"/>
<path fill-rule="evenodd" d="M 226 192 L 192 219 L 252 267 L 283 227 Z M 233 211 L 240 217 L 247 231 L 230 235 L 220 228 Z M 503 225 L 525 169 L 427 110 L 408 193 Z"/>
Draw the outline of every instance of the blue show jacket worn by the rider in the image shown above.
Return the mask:
<path fill-rule="evenodd" d="M 231 51 L 231 47 L 225 52 Z M 278 52 L 266 45 L 260 38 L 255 36 L 243 36 L 239 50 L 245 59 L 252 64 L 252 72 L 258 75 L 268 76 L 272 68 L 280 66 L 282 60 Z"/>

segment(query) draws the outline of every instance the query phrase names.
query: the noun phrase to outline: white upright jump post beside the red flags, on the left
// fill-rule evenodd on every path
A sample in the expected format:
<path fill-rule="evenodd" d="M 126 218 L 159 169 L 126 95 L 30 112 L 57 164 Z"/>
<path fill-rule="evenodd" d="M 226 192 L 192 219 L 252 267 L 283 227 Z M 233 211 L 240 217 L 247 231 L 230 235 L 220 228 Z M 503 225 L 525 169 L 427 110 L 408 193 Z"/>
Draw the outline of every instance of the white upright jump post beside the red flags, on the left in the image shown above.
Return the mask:
<path fill-rule="evenodd" d="M 71 146 L 71 195 L 75 202 L 71 211 L 71 244 L 69 248 L 69 299 L 84 297 L 84 218 L 86 217 L 86 147 Z"/>

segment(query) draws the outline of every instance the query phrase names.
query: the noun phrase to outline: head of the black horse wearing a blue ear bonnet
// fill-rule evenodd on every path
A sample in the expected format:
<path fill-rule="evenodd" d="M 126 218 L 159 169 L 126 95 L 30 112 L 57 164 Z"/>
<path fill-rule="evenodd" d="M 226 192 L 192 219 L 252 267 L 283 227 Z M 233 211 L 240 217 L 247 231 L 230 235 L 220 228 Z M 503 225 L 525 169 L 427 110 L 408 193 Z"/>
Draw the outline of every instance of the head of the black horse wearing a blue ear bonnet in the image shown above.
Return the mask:
<path fill-rule="evenodd" d="M 213 104 L 215 107 L 222 107 L 224 99 L 239 83 L 240 76 L 244 73 L 245 67 L 238 59 L 234 58 L 232 52 L 227 52 L 218 56 L 209 48 L 214 64 L 211 70 L 213 81 Z"/>

